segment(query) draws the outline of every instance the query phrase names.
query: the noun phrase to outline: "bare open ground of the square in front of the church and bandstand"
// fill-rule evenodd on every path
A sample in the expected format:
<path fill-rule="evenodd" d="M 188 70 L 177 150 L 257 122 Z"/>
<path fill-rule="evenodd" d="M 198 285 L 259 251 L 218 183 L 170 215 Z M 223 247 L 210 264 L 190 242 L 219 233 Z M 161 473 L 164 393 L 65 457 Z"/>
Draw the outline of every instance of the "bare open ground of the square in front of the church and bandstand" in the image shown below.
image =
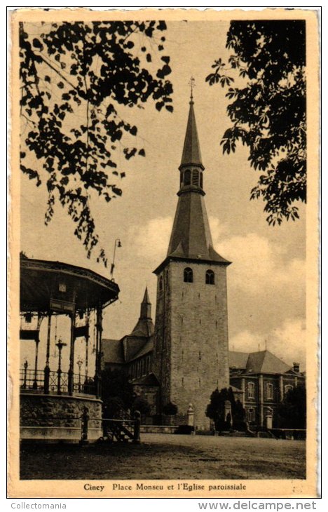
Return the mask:
<path fill-rule="evenodd" d="M 142 443 L 25 445 L 22 480 L 306 478 L 299 440 L 143 434 Z"/>

